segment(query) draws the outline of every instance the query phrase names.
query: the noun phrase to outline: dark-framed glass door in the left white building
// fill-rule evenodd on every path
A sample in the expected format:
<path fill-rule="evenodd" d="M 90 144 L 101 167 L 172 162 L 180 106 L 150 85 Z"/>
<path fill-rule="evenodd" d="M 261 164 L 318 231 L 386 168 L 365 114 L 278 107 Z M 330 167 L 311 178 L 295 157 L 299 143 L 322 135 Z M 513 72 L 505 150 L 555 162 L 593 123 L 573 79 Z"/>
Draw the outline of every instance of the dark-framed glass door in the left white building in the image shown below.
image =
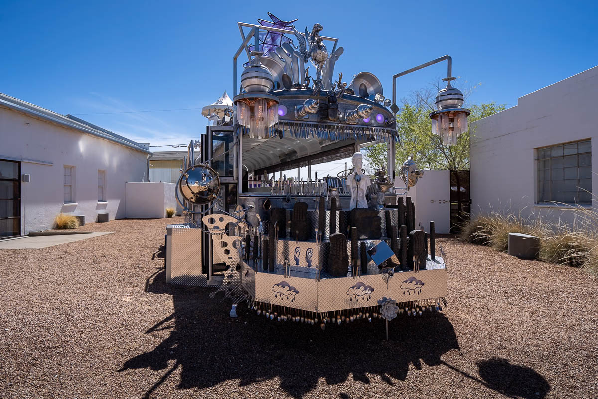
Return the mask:
<path fill-rule="evenodd" d="M 0 239 L 21 235 L 21 163 L 0 159 Z"/>

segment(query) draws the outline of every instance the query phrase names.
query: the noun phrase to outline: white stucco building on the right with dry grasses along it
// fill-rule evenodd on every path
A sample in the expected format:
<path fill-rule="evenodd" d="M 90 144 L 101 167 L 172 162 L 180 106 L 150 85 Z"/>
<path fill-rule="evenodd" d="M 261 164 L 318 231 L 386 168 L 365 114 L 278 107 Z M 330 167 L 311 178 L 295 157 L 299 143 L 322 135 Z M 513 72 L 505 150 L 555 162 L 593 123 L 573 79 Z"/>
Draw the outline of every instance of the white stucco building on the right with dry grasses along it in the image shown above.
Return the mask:
<path fill-rule="evenodd" d="M 473 124 L 472 213 L 510 208 L 570 222 L 568 205 L 592 206 L 588 191 L 598 194 L 596 93 L 598 66 Z"/>

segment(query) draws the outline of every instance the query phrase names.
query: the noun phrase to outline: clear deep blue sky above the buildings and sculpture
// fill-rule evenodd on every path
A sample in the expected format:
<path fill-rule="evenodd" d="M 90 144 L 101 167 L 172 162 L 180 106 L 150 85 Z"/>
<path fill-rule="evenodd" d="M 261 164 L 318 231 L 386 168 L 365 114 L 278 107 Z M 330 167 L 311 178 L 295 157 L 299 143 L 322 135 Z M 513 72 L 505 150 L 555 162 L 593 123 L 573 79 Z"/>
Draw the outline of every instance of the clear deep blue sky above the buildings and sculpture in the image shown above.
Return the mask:
<path fill-rule="evenodd" d="M 372 72 L 387 96 L 393 74 L 444 54 L 453 57 L 455 86 L 481 83 L 470 102 L 508 106 L 598 65 L 595 1 L 4 0 L 0 92 L 138 141 L 188 142 L 205 132 L 199 109 L 105 113 L 201 108 L 224 90 L 232 97 L 236 22 L 267 19 L 268 11 L 298 19 L 302 31 L 321 23 L 322 35 L 344 47 L 335 71 L 347 82 Z M 443 77 L 445 68 L 400 78 L 399 98 Z"/>

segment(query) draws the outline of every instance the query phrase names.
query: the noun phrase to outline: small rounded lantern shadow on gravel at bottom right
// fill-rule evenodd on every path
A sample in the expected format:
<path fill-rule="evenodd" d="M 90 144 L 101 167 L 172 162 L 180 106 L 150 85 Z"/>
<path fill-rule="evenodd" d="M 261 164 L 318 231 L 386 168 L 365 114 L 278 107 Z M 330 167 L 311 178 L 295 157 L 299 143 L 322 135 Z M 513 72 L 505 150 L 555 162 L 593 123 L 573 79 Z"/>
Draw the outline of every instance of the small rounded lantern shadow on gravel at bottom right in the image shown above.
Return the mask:
<path fill-rule="evenodd" d="M 511 364 L 507 359 L 493 357 L 477 362 L 480 377 L 487 386 L 501 394 L 518 398 L 544 398 L 550 383 L 533 368 Z"/>

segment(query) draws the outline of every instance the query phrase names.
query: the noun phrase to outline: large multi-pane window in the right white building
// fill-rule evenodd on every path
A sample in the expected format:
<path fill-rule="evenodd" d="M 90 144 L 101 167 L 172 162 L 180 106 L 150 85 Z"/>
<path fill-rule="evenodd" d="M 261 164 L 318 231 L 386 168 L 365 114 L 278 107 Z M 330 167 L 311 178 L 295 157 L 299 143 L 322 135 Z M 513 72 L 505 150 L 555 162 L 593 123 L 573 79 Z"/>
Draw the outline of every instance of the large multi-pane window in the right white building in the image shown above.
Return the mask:
<path fill-rule="evenodd" d="M 536 149 L 538 203 L 591 205 L 590 139 Z"/>

